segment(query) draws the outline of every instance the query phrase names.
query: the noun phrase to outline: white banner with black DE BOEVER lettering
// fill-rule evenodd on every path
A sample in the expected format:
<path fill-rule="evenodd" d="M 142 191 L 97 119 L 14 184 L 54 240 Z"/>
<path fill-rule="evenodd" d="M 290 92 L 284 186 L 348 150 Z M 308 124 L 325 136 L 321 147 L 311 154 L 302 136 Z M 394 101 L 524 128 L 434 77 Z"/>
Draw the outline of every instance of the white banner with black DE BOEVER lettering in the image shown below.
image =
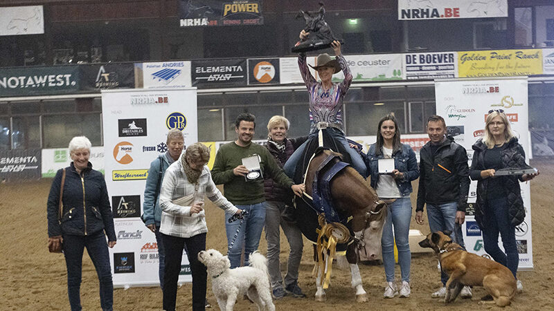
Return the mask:
<path fill-rule="evenodd" d="M 458 77 L 458 53 L 404 54 L 406 79 L 444 79 Z"/>

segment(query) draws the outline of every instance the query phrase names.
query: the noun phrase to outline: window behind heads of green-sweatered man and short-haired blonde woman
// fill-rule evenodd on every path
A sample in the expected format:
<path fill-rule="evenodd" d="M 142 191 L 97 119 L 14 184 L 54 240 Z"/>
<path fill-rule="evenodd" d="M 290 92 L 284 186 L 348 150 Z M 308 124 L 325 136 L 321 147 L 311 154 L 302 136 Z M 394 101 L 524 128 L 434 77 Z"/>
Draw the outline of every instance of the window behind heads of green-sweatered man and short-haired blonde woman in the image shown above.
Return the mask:
<path fill-rule="evenodd" d="M 256 131 L 253 140 L 267 139 L 267 122 L 274 115 L 283 115 L 283 106 L 242 106 L 225 109 L 225 140 L 234 140 L 235 120 L 240 113 L 252 113 L 256 116 Z"/>

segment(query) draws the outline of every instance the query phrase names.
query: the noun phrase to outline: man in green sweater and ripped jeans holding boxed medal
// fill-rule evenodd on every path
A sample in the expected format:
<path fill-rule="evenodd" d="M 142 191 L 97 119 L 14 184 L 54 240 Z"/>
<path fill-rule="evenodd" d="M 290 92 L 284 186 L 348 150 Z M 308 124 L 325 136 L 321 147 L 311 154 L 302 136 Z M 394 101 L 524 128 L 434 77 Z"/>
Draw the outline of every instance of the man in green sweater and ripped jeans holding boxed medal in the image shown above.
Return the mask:
<path fill-rule="evenodd" d="M 265 225 L 265 194 L 262 176 L 271 178 L 281 187 L 290 188 L 297 196 L 305 190 L 304 185 L 294 185 L 281 169 L 269 151 L 260 144 L 252 142 L 256 117 L 250 113 L 241 113 L 235 121 L 237 140 L 222 145 L 212 169 L 215 185 L 223 184 L 224 195 L 233 205 L 248 211 L 241 220 L 229 223 L 232 214 L 226 214 L 225 229 L 229 246 L 228 256 L 231 269 L 240 266 L 240 256 L 244 246 L 244 265 L 248 265 L 249 254 L 258 249 L 260 236 Z M 260 160 L 262 176 L 256 180 L 245 177 L 249 169 L 242 165 L 242 159 L 257 155 Z"/>

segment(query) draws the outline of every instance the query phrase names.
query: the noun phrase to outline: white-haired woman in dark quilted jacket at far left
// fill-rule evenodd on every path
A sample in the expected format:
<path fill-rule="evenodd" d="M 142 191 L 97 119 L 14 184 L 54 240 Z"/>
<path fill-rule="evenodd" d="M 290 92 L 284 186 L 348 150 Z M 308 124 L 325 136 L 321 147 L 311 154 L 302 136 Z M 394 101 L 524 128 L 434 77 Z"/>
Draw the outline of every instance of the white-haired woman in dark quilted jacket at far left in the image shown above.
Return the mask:
<path fill-rule="evenodd" d="M 67 293 L 71 310 L 81 310 L 80 285 L 84 247 L 91 257 L 100 283 L 100 306 L 112 310 L 114 285 L 111 282 L 108 247 L 116 245 L 114 216 L 104 176 L 89 162 L 91 142 L 84 136 L 69 142 L 71 165 L 57 171 L 48 195 L 48 246 L 63 243 L 67 267 Z M 60 186 L 65 174 L 60 213 Z M 106 243 L 107 236 L 107 243 Z"/>

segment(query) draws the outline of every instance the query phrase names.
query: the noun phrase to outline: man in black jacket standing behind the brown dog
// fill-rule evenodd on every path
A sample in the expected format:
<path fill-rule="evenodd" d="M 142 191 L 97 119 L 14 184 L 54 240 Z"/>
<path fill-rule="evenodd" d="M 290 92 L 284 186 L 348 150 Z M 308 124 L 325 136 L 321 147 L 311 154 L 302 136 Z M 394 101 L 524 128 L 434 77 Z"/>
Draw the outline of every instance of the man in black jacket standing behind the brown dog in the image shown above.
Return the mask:
<path fill-rule="evenodd" d="M 427 203 L 427 218 L 431 232 L 450 230 L 452 239 L 464 246 L 461 225 L 465 221 L 467 193 L 470 191 L 470 167 L 465 148 L 447 137 L 443 117 L 431 115 L 427 120 L 427 134 L 431 139 L 420 150 L 420 183 L 415 221 L 423 224 L 423 205 Z M 448 276 L 441 272 L 443 287 L 431 294 L 444 297 Z M 461 296 L 471 298 L 469 287 Z"/>

